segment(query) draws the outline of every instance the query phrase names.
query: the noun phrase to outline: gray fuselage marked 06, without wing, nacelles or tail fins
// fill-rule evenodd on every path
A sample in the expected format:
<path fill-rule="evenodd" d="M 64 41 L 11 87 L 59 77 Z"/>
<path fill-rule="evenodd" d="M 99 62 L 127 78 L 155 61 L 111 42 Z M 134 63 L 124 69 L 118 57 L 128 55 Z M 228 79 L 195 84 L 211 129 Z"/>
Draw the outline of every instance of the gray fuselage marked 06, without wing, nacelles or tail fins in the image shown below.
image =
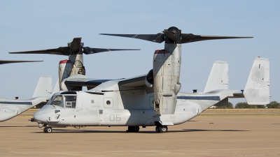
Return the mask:
<path fill-rule="evenodd" d="M 174 114 L 155 114 L 153 93 L 145 89 L 106 91 L 60 91 L 34 114 L 49 126 L 155 126 L 182 124 L 223 99 L 215 94 L 179 93 Z M 61 102 L 59 102 L 61 101 Z"/>

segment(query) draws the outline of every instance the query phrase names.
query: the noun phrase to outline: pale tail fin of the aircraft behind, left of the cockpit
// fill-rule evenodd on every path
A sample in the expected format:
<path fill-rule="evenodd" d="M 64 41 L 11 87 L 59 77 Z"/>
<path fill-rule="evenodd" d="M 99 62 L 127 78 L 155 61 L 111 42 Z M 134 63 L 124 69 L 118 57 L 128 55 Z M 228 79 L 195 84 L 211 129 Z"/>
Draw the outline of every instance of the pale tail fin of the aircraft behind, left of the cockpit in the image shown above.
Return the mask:
<path fill-rule="evenodd" d="M 41 76 L 32 98 L 41 97 L 41 96 L 50 97 L 51 94 L 52 94 L 52 77 Z"/>

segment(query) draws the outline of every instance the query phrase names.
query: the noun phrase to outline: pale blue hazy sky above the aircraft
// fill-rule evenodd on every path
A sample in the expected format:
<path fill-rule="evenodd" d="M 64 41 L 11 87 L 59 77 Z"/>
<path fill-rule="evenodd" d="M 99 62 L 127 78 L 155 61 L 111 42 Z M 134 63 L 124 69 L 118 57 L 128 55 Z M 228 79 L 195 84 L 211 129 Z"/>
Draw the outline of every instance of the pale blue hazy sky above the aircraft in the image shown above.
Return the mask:
<path fill-rule="evenodd" d="M 153 52 L 164 43 L 101 36 L 99 33 L 182 33 L 253 36 L 182 45 L 181 91 L 204 91 L 214 61 L 229 62 L 229 89 L 244 89 L 255 57 L 270 59 L 271 101 L 280 102 L 280 1 L 0 1 L 0 59 L 43 60 L 1 65 L 0 97 L 31 98 L 41 75 L 55 84 L 66 56 L 8 54 L 64 47 L 82 37 L 87 47 L 139 48 L 140 51 L 84 55 L 90 78 L 117 79 L 148 73 Z M 232 103 L 244 99 L 230 99 Z"/>

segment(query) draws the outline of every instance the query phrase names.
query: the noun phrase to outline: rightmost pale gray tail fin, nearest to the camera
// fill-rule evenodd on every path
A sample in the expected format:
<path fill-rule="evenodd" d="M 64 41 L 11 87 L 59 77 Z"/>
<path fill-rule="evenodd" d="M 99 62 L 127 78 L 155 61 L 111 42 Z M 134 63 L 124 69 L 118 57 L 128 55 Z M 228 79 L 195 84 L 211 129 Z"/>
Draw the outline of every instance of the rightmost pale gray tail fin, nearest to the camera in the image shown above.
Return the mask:
<path fill-rule="evenodd" d="M 269 103 L 269 59 L 256 58 L 248 77 L 244 97 L 249 105 Z"/>

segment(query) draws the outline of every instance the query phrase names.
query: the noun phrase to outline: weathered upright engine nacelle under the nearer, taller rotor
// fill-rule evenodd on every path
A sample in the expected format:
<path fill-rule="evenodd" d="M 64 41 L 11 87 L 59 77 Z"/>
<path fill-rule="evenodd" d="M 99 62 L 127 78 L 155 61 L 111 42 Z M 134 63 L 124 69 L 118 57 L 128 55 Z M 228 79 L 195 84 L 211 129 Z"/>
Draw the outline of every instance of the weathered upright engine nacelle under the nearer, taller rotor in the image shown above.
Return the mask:
<path fill-rule="evenodd" d="M 181 89 L 180 66 L 181 57 L 177 59 L 176 55 L 167 50 L 155 51 L 153 56 L 155 114 L 174 114 L 177 94 Z"/>

